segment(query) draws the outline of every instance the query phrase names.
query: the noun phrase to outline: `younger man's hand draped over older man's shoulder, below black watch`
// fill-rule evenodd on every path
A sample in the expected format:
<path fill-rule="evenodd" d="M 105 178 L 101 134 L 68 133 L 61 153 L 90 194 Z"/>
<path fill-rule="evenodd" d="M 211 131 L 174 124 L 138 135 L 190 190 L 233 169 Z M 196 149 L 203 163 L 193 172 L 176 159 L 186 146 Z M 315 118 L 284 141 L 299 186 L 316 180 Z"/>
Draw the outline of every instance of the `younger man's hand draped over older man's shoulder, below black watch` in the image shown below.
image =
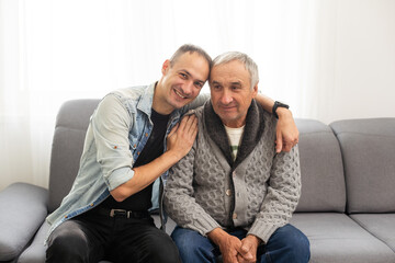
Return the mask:
<path fill-rule="evenodd" d="M 276 124 L 275 152 L 291 151 L 298 142 L 298 130 L 291 111 L 286 108 L 278 108 L 279 121 Z"/>

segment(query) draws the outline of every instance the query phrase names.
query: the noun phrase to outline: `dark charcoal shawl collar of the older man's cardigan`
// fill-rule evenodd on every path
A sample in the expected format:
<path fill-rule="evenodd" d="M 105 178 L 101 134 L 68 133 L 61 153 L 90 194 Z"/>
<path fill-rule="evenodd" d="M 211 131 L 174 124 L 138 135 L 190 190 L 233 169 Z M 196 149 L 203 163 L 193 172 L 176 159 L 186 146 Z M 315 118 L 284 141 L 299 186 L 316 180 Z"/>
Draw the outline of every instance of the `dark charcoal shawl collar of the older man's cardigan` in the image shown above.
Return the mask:
<path fill-rule="evenodd" d="M 263 108 L 252 100 L 250 107 L 247 112 L 246 126 L 241 138 L 236 160 L 234 161 L 230 152 L 230 142 L 226 134 L 223 122 L 219 116 L 214 112 L 211 100 L 204 105 L 204 122 L 208 136 L 218 146 L 225 159 L 234 170 L 240 164 L 246 157 L 258 145 L 262 137 L 264 129 Z"/>

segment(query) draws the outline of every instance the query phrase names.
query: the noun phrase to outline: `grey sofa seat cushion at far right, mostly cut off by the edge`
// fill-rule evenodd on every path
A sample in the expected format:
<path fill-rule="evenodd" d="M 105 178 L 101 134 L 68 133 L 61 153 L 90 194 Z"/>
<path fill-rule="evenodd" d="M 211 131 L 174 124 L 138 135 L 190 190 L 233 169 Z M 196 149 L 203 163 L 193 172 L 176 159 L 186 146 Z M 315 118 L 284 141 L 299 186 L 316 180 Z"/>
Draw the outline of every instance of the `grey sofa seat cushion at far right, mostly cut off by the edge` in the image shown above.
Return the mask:
<path fill-rule="evenodd" d="M 354 214 L 350 217 L 395 252 L 395 214 Z"/>

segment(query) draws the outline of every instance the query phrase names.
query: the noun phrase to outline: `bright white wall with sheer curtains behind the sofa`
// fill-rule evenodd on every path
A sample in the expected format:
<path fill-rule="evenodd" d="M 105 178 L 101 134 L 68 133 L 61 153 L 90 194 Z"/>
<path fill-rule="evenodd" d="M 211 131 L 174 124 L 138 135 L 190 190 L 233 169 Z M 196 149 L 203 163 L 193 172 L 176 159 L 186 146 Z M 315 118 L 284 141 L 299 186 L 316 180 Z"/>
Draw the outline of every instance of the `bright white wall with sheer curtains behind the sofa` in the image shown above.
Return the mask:
<path fill-rule="evenodd" d="M 14 84 L 9 84 L 11 89 L 7 92 L 18 93 L 18 98 L 23 99 L 20 100 L 20 104 L 16 104 L 14 100 L 0 100 L 0 114 L 4 113 L 2 110 L 7 104 L 9 111 L 15 115 L 11 114 L 4 118 L 8 121 L 5 124 L 0 123 L 0 135 L 9 135 L 7 139 L 0 136 L 0 190 L 16 181 L 47 187 L 53 118 L 46 115 L 54 114 L 56 112 L 54 108 L 60 105 L 58 95 L 63 99 L 74 95 L 100 98 L 114 89 L 110 79 L 117 81 L 115 87 L 125 87 L 126 83 L 134 83 L 136 79 L 139 80 L 138 84 L 145 83 L 145 79 L 151 80 L 156 78 L 153 75 L 160 73 L 159 66 L 157 68 L 154 66 L 160 65 L 166 56 L 171 55 L 174 46 L 183 43 L 208 47 L 207 52 L 212 56 L 230 49 L 246 52 L 260 67 L 262 92 L 273 99 L 290 103 L 295 117 L 315 118 L 326 124 L 345 118 L 395 117 L 395 0 L 251 1 L 256 4 L 255 8 L 252 7 L 255 12 L 242 21 L 237 20 L 239 19 L 237 13 L 242 11 L 244 15 L 249 14 L 246 9 L 251 9 L 250 3 L 246 4 L 241 0 L 218 0 L 214 2 L 215 9 L 207 10 L 205 13 L 211 20 L 202 19 L 203 25 L 198 23 L 193 30 L 190 30 L 188 23 L 180 23 L 189 19 L 189 13 L 178 15 L 172 13 L 169 23 L 162 27 L 148 23 L 149 30 L 143 28 L 134 19 L 131 19 L 134 16 L 129 15 L 127 10 L 125 14 L 120 13 L 119 16 L 103 20 L 102 18 L 106 18 L 104 11 L 109 7 L 113 7 L 114 12 L 120 12 L 123 9 L 116 9 L 116 4 L 135 3 L 119 1 L 108 7 L 106 1 L 98 2 L 101 5 L 98 3 L 97 8 L 101 8 L 102 11 L 95 10 L 97 12 L 90 14 L 90 23 L 84 24 L 87 27 L 75 22 L 77 26 L 82 27 L 78 31 L 78 27 L 70 26 L 72 21 L 68 20 L 70 13 L 74 15 L 77 13 L 83 19 L 87 15 L 74 9 L 72 4 L 77 4 L 77 1 L 61 2 L 63 4 L 52 7 L 45 0 L 34 1 L 34 3 L 10 0 L 9 4 L 31 4 L 30 9 L 36 7 L 40 10 L 44 8 L 44 13 L 47 15 L 37 20 L 33 16 L 40 15 L 40 12 L 33 12 L 30 13 L 31 16 L 25 18 L 30 49 L 21 54 L 19 50 L 25 50 L 24 46 L 15 45 L 11 38 L 18 39 L 24 36 L 24 32 L 18 32 L 18 23 L 22 23 L 23 20 L 16 19 L 15 14 L 5 9 L 1 10 L 4 5 L 0 5 L 0 36 L 7 36 L 4 39 L 0 38 L 0 49 L 3 52 L 0 54 L 0 95 L 4 91 L 2 83 L 5 83 L 1 82 L 1 78 L 7 77 L 7 79 L 15 79 L 13 82 L 20 85 L 15 88 Z M 177 4 L 176 0 L 170 2 Z M 225 2 L 229 7 L 217 13 Z M 82 3 L 86 4 L 83 10 L 90 10 L 90 1 L 78 1 L 78 4 Z M 198 11 L 196 11 L 199 14 L 196 19 L 203 15 L 202 9 L 205 9 L 207 4 L 196 7 Z M 58 11 L 54 7 L 61 9 L 63 12 L 58 13 L 63 13 L 65 19 L 52 21 L 49 12 Z M 240 9 L 232 9 L 232 7 Z M 165 14 L 171 12 L 170 9 L 168 4 L 162 4 L 159 11 L 145 7 L 144 10 L 150 10 L 150 16 L 144 16 L 146 19 L 144 23 L 147 24 L 155 15 L 166 16 Z M 16 14 L 22 15 L 24 9 L 21 10 Z M 297 11 L 294 12 L 294 10 Z M 289 14 L 296 14 L 297 18 L 290 18 Z M 300 19 L 300 16 L 304 18 L 304 14 L 306 19 Z M 3 23 L 7 16 L 15 20 L 12 22 L 15 28 Z M 250 20 L 250 16 L 257 20 Z M 214 21 L 214 18 L 217 21 Z M 32 23 L 33 19 L 35 23 Z M 125 23 L 124 19 L 128 19 L 126 26 L 117 26 Z M 9 22 L 13 20 L 8 18 Z M 57 23 L 50 23 L 54 21 Z M 292 26 L 294 21 L 298 21 L 303 26 Z M 99 26 L 92 26 L 95 31 L 91 31 L 90 25 L 97 23 Z M 108 23 L 112 23 L 112 27 L 106 28 Z M 97 27 L 103 27 L 104 31 Z M 111 46 L 111 43 L 105 41 L 108 38 L 104 34 L 110 31 L 109 28 L 120 31 L 113 32 L 113 36 L 116 37 L 113 37 L 112 42 L 117 48 L 127 50 L 126 54 L 129 56 L 124 56 L 124 53 L 116 53 L 111 48 L 106 49 L 106 46 Z M 298 31 L 293 28 L 298 28 Z M 182 34 L 184 32 L 185 34 Z M 144 38 L 147 43 L 154 43 L 159 36 L 160 45 L 151 57 L 148 56 L 151 55 L 149 50 L 140 52 L 140 48 L 131 48 L 126 45 L 128 42 L 134 43 L 136 34 L 137 38 Z M 169 35 L 177 37 L 169 37 Z M 169 38 L 170 41 L 166 41 Z M 59 45 L 66 41 L 69 42 L 66 46 Z M 94 45 L 91 45 L 92 42 Z M 14 57 L 10 59 L 12 61 L 10 64 L 3 62 L 7 46 L 12 47 L 7 53 L 16 54 L 15 59 Z M 275 49 L 276 46 L 280 47 Z M 59 53 L 58 49 L 65 49 L 65 52 Z M 108 50 L 108 54 L 102 55 L 100 60 L 97 55 L 102 50 Z M 80 57 L 88 58 L 82 60 Z M 132 61 L 123 60 L 123 57 L 133 59 Z M 91 70 L 90 64 L 95 61 L 94 59 L 100 61 L 94 62 L 98 68 Z M 142 59 L 149 64 L 142 66 L 139 64 Z M 31 64 L 34 67 L 18 69 L 18 62 L 22 60 L 43 60 L 43 64 L 40 67 L 35 66 L 37 64 Z M 101 61 L 110 61 L 110 64 Z M 7 73 L 14 67 L 16 67 L 13 70 L 15 75 Z M 142 67 L 144 67 L 143 70 Z M 108 68 L 112 71 L 109 72 Z M 139 71 L 144 72 L 143 76 Z M 104 78 L 97 78 L 101 72 Z M 132 76 L 129 72 L 135 73 Z M 26 76 L 30 88 L 35 87 L 30 93 L 23 85 L 25 81 L 23 77 Z M 53 87 L 56 87 L 56 91 Z M 69 91 L 70 87 L 75 90 Z M 100 94 L 92 95 L 93 90 L 98 90 Z M 56 94 L 53 95 L 53 100 L 42 103 L 40 96 L 44 93 Z M 65 95 L 66 93 L 68 96 Z M 31 99 L 27 100 L 26 96 Z M 21 103 L 21 101 L 30 103 Z M 44 106 L 40 107 L 40 104 Z M 33 114 L 30 114 L 26 119 L 23 118 L 25 113 L 32 112 Z M 16 117 L 20 117 L 19 122 Z M 21 128 L 20 123 L 25 123 L 27 128 Z M 16 145 L 15 141 L 18 141 Z"/>

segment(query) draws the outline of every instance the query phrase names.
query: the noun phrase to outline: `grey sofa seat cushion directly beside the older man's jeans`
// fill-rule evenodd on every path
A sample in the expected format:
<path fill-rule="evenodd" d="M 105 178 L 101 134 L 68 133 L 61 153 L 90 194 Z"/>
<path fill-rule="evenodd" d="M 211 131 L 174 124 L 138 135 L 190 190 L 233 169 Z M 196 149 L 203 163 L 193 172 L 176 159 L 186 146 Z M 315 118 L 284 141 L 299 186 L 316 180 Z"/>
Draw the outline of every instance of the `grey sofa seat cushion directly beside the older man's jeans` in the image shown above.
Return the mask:
<path fill-rule="evenodd" d="M 311 242 L 311 262 L 395 263 L 395 253 L 345 214 L 297 213 L 291 224 Z"/>

